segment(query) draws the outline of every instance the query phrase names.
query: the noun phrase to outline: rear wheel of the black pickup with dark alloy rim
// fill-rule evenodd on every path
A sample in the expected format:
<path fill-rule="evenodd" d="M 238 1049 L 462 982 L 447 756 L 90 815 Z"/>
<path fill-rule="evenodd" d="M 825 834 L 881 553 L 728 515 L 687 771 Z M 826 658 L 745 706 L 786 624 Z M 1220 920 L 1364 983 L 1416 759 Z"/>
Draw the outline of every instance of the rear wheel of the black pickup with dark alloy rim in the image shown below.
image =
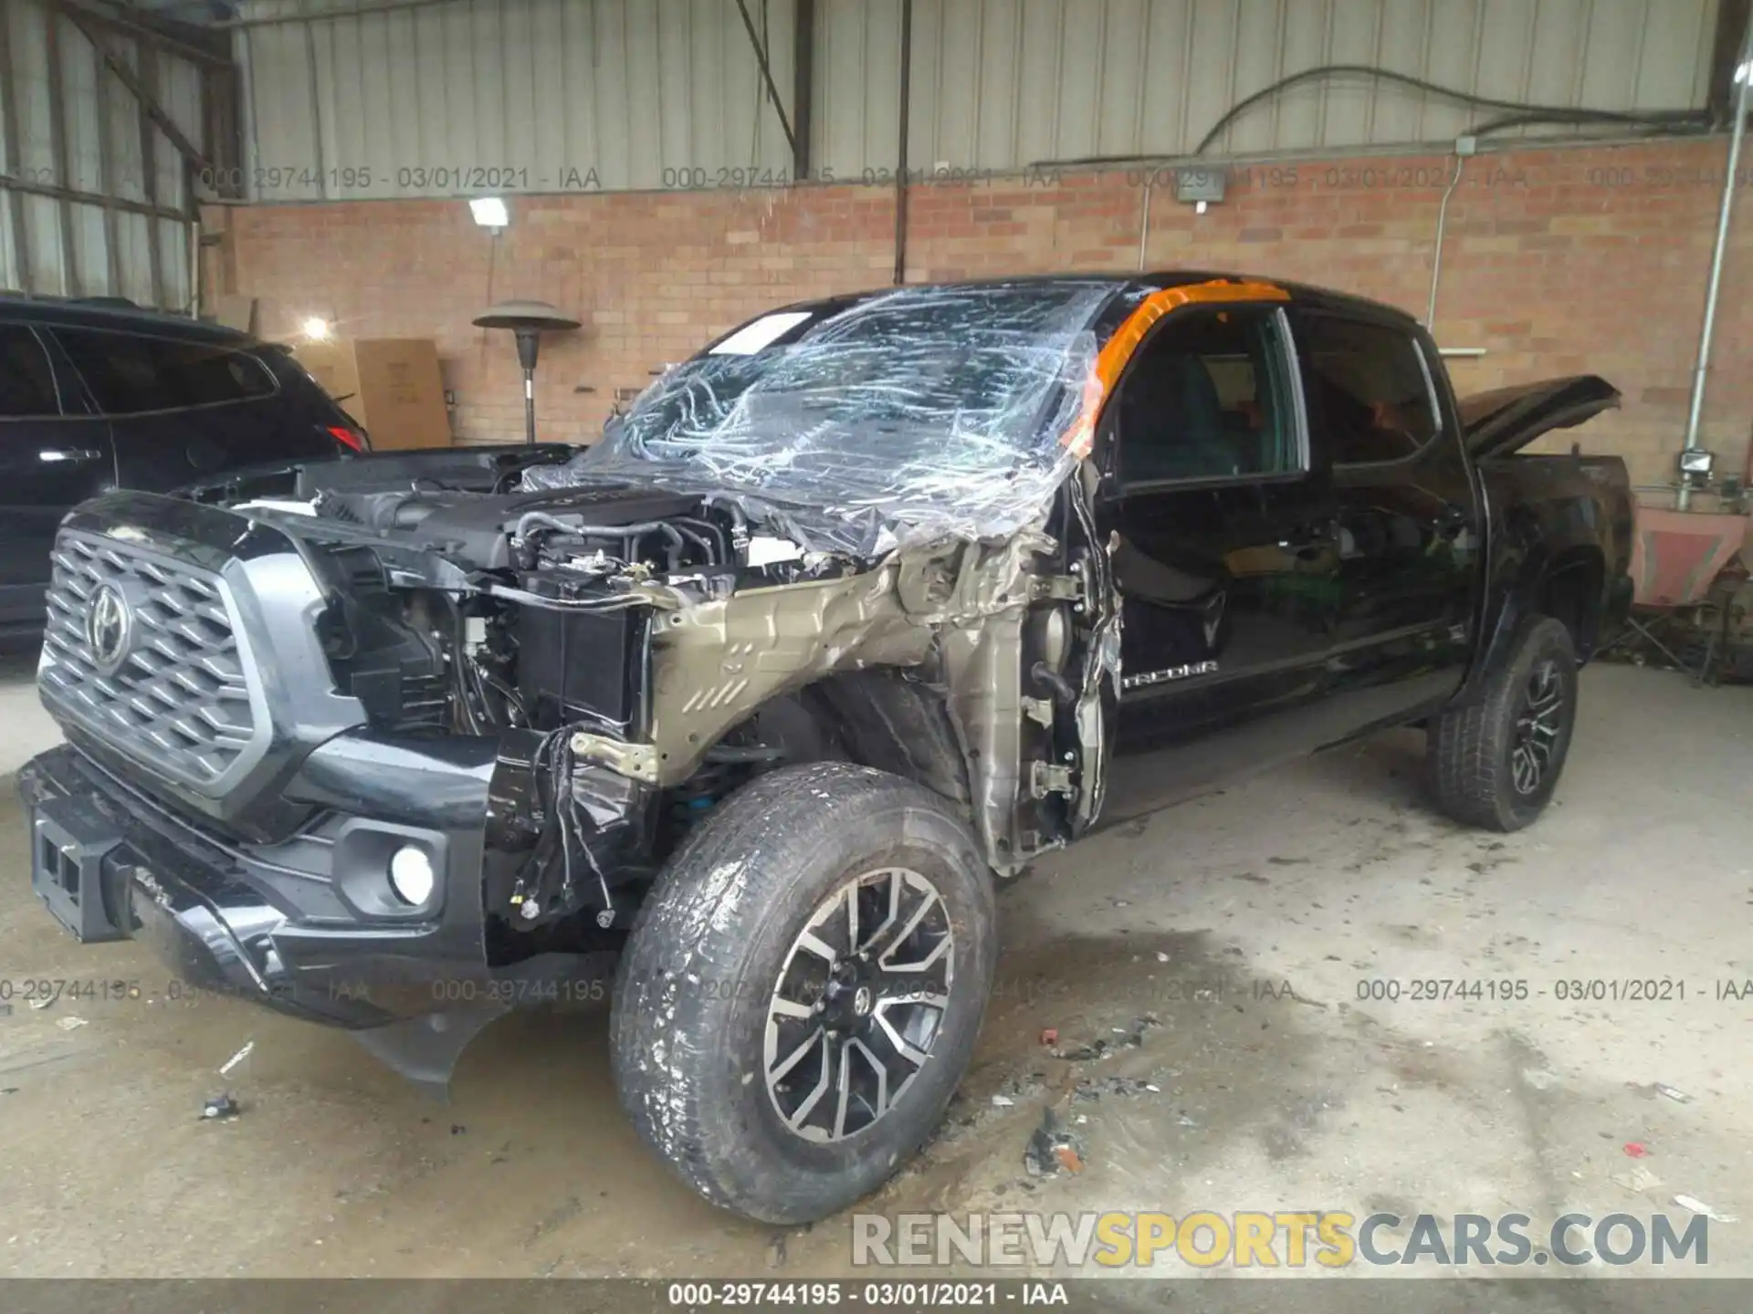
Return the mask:
<path fill-rule="evenodd" d="M 1478 701 L 1429 731 L 1437 804 L 1457 822 L 1520 830 L 1551 801 L 1576 724 L 1576 646 L 1551 617 L 1530 617 Z"/>

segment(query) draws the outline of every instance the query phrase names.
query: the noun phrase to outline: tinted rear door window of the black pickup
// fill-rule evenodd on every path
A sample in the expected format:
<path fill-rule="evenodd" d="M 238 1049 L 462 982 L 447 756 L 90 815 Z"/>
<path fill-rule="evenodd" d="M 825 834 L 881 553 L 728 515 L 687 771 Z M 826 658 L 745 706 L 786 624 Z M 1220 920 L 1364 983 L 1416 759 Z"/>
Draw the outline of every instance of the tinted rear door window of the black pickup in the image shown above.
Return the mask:
<path fill-rule="evenodd" d="M 1334 464 L 1394 461 L 1436 436 L 1430 384 L 1404 329 L 1304 315 L 1297 345 Z"/>

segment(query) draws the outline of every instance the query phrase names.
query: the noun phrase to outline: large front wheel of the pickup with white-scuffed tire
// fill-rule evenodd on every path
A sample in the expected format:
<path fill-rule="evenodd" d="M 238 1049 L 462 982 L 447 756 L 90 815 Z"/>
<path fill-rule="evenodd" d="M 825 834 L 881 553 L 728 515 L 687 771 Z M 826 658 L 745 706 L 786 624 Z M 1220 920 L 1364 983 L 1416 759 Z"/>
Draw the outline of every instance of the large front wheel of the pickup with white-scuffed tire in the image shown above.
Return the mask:
<path fill-rule="evenodd" d="M 713 1204 L 824 1218 L 936 1128 L 996 957 L 992 878 L 945 799 L 845 762 L 773 771 L 640 909 L 610 1020 L 621 1104 Z"/>

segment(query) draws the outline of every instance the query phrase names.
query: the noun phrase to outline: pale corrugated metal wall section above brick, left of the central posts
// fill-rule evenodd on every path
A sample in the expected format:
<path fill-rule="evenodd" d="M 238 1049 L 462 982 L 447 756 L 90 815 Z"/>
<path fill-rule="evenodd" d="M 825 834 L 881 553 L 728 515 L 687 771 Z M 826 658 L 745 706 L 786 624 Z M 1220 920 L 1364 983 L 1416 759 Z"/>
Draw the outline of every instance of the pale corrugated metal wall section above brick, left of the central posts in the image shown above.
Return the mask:
<path fill-rule="evenodd" d="M 296 0 L 249 19 L 317 12 Z M 789 0 L 750 0 L 791 88 Z M 789 170 L 731 0 L 463 0 L 251 26 L 251 194 L 722 184 Z"/>

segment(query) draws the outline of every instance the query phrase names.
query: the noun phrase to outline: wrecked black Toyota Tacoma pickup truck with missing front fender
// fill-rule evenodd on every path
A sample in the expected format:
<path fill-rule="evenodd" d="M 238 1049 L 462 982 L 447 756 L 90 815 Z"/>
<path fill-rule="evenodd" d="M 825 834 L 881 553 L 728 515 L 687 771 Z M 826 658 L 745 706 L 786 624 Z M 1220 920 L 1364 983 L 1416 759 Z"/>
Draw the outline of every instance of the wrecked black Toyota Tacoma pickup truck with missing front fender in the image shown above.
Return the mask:
<path fill-rule="evenodd" d="M 1453 816 L 1541 813 L 1632 499 L 1518 449 L 1616 401 L 1457 403 L 1350 296 L 1078 275 L 761 315 L 591 449 L 116 492 L 54 548 L 32 880 L 440 1088 L 619 960 L 640 1134 L 819 1218 L 936 1125 L 1040 855 L 1395 724 Z"/>

